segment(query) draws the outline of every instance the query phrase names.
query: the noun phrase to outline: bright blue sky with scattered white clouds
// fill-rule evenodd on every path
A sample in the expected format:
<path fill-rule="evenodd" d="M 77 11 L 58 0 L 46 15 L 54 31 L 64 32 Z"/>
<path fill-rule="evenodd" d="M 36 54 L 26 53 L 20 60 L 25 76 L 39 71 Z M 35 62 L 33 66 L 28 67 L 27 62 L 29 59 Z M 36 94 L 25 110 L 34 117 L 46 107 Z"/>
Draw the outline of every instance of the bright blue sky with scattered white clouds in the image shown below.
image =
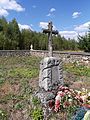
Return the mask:
<path fill-rule="evenodd" d="M 61 36 L 77 38 L 90 24 L 90 0 L 0 0 L 0 17 L 16 18 L 20 29 L 41 31 L 53 22 Z"/>

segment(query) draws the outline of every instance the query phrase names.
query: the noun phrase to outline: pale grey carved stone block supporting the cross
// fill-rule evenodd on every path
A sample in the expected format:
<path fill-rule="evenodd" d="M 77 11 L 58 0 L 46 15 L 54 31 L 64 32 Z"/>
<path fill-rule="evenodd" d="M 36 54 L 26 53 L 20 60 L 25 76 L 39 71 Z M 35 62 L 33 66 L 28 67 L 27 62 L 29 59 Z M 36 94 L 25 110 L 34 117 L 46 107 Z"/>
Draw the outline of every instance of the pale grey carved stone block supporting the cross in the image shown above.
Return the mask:
<path fill-rule="evenodd" d="M 56 57 L 46 57 L 40 62 L 39 87 L 51 91 L 63 84 L 62 61 Z"/>

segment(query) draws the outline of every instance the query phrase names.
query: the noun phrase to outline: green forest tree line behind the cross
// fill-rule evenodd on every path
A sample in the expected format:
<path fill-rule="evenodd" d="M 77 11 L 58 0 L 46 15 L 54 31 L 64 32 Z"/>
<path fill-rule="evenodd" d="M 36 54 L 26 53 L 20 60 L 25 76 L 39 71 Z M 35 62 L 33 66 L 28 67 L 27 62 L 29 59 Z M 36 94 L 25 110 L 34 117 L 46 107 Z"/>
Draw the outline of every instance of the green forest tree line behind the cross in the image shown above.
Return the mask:
<path fill-rule="evenodd" d="M 48 35 L 30 29 L 20 30 L 14 18 L 7 21 L 0 18 L 0 50 L 29 50 L 31 44 L 35 50 L 48 49 Z M 53 35 L 54 50 L 84 50 L 90 52 L 90 31 L 85 36 L 78 36 L 78 41 Z"/>

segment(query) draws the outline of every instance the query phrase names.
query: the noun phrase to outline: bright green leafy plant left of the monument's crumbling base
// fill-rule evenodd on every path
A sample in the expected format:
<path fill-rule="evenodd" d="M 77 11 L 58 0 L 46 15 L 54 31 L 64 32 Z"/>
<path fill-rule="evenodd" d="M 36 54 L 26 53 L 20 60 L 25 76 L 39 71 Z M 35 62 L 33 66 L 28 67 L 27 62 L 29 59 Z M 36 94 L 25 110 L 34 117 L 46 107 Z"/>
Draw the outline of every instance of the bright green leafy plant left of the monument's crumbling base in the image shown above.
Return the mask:
<path fill-rule="evenodd" d="M 43 120 L 43 112 L 40 108 L 36 108 L 32 111 L 33 120 Z"/>

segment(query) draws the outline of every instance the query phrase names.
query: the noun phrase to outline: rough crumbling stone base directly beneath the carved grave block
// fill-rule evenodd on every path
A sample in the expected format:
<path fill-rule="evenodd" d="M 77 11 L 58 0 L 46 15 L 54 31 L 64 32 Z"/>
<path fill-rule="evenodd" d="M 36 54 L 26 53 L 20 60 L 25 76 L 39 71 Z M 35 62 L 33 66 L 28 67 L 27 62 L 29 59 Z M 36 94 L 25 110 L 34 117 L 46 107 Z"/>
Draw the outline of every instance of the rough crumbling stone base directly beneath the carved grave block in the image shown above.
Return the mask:
<path fill-rule="evenodd" d="M 43 120 L 48 120 L 49 116 L 51 115 L 54 109 L 55 96 L 56 96 L 56 90 L 45 91 L 44 89 L 39 89 L 37 93 L 37 97 L 40 99 L 42 103 L 42 109 L 44 114 Z"/>

